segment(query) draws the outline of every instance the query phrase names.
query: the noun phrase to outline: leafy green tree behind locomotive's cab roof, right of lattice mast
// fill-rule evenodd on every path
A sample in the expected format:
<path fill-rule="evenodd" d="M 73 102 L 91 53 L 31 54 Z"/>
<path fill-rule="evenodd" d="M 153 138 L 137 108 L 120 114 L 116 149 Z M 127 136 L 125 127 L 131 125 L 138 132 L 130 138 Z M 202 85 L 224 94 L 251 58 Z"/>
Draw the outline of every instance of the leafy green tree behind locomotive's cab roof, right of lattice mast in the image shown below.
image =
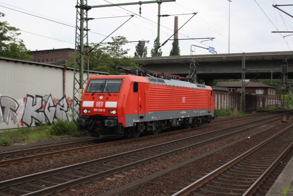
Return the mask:
<path fill-rule="evenodd" d="M 127 56 L 129 49 L 124 50 L 122 48 L 125 43 L 119 43 L 125 41 L 127 41 L 125 37 L 116 36 L 112 37 L 112 43 L 99 46 L 97 46 L 97 43 L 91 43 L 90 48 L 97 47 L 89 53 L 89 70 L 108 72 L 110 75 L 114 75 L 116 74 L 115 66 L 140 69 L 141 67 L 135 63 L 134 57 Z M 76 58 L 79 58 L 79 56 Z M 74 59 L 71 58 L 70 61 L 67 61 L 67 65 L 73 67 L 73 62 Z"/>

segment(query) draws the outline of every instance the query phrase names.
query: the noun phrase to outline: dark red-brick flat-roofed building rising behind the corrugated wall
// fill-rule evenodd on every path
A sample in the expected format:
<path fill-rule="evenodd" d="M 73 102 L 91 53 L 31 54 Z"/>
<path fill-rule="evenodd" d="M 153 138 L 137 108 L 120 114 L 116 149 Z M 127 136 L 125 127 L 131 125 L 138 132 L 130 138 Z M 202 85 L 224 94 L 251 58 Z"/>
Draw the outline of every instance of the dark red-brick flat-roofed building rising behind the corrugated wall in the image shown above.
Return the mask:
<path fill-rule="evenodd" d="M 50 50 L 36 50 L 28 53 L 32 55 L 31 61 L 39 63 L 48 63 L 55 61 L 67 61 L 68 56 L 74 57 L 74 48 L 60 48 Z"/>

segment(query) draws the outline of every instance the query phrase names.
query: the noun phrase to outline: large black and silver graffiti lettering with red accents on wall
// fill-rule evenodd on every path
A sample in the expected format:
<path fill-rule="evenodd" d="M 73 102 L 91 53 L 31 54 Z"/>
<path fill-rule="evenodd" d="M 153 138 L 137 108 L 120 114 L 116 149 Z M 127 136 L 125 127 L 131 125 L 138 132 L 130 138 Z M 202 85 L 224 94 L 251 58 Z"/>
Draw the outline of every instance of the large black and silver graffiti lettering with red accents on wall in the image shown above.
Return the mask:
<path fill-rule="evenodd" d="M 13 123 L 30 127 L 40 123 L 53 123 L 57 118 L 69 121 L 71 103 L 72 99 L 66 96 L 56 99 L 51 95 L 27 95 L 20 100 L 0 96 L 0 124 Z"/>

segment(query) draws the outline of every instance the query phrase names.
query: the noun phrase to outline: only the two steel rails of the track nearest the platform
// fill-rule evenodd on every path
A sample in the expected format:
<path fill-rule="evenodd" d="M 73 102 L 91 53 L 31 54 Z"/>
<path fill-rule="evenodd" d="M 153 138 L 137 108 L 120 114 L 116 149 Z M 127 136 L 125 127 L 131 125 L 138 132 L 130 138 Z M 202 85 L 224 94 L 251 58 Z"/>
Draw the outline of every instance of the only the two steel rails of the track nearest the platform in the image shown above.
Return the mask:
<path fill-rule="evenodd" d="M 236 163 L 238 163 L 243 158 L 246 158 L 248 155 L 250 155 L 251 153 L 255 152 L 259 148 L 263 147 L 264 145 L 266 145 L 267 143 L 269 143 L 270 141 L 272 141 L 273 139 L 277 138 L 279 135 L 285 133 L 287 130 L 289 130 L 291 128 L 293 128 L 293 125 L 290 125 L 287 128 L 281 130 L 279 133 L 276 133 L 272 137 L 270 137 L 267 140 L 263 141 L 262 143 L 256 145 L 255 147 L 251 148 L 250 150 L 246 151 L 245 153 L 239 155 L 238 157 L 234 158 L 233 160 L 229 161 L 228 163 L 222 165 L 221 167 L 217 168 L 216 170 L 210 172 L 209 174 L 203 176 L 202 178 L 198 179 L 197 181 L 193 182 L 192 184 L 188 185 L 187 187 L 185 187 L 185 188 L 181 189 L 180 191 L 176 192 L 172 196 L 186 196 L 186 195 L 189 195 L 191 192 L 195 191 L 197 188 L 201 187 L 202 185 L 207 183 L 209 180 L 211 180 L 215 176 L 219 175 L 220 173 L 222 173 L 223 171 L 225 171 L 226 169 L 228 169 L 232 165 L 235 165 Z M 292 148 L 292 143 L 291 143 L 291 145 L 289 145 L 286 148 L 286 150 L 282 153 L 282 155 L 279 156 L 278 159 L 282 158 L 290 148 Z M 251 193 L 254 192 L 255 189 L 258 188 L 258 186 L 261 184 L 261 182 L 264 180 L 264 178 L 268 175 L 267 172 L 271 171 L 276 166 L 277 163 L 278 163 L 277 160 L 275 160 L 274 163 L 265 171 L 265 173 L 260 176 L 261 178 L 259 178 L 257 181 L 255 181 L 255 183 L 253 184 L 253 187 L 249 188 L 247 190 L 247 192 L 245 193 L 246 196 L 252 195 Z"/>

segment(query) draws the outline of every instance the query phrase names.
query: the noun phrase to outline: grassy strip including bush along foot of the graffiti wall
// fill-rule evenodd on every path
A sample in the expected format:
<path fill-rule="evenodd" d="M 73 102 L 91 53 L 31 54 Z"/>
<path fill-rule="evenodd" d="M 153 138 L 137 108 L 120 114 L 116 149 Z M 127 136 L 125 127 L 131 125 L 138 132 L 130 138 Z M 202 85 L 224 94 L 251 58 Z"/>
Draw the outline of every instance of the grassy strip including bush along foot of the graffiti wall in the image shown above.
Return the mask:
<path fill-rule="evenodd" d="M 66 130 L 64 130 L 64 128 L 66 128 Z M 62 132 L 57 132 L 56 130 L 62 130 Z M 58 119 L 57 122 L 50 126 L 41 124 L 40 126 L 31 128 L 25 127 L 17 130 L 4 130 L 0 132 L 0 146 L 78 137 L 80 135 L 81 133 L 77 131 L 77 127 L 74 123 Z"/>

